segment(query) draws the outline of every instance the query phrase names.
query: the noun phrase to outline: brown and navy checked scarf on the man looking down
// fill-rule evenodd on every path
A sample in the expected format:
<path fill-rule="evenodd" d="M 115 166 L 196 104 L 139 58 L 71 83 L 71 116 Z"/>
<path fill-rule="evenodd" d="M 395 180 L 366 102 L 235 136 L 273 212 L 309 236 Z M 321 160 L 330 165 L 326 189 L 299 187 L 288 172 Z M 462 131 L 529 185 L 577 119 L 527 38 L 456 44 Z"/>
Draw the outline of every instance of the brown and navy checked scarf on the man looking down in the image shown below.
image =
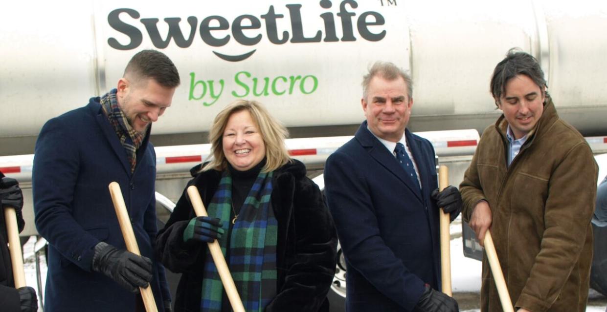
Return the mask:
<path fill-rule="evenodd" d="M 131 163 L 131 173 L 133 173 L 135 165 L 137 165 L 137 149 L 141 146 L 144 136 L 131 127 L 129 120 L 126 119 L 120 106 L 118 106 L 118 101 L 116 100 L 117 91 L 114 88 L 101 97 L 101 108 L 106 113 L 107 119 L 112 124 L 114 131 L 118 134 L 120 144 L 124 147 L 126 156 Z"/>

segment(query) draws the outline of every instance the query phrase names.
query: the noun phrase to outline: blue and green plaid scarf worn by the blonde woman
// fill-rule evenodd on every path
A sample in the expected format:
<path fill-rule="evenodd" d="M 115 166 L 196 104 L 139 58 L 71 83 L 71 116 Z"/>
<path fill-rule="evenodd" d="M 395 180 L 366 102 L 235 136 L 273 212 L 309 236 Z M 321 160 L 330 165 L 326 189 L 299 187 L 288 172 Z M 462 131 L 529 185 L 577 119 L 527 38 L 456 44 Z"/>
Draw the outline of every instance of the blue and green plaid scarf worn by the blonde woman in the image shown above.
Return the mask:
<path fill-rule="evenodd" d="M 270 207 L 273 172 L 257 175 L 240 209 L 230 239 L 229 270 L 245 310 L 263 311 L 276 296 L 276 244 L 278 222 Z M 209 216 L 223 220 L 228 233 L 232 207 L 232 178 L 225 170 L 209 205 Z M 219 239 L 223 256 L 228 236 Z M 200 311 L 222 310 L 223 285 L 210 254 L 205 260 Z M 229 304 L 226 302 L 225 304 Z"/>

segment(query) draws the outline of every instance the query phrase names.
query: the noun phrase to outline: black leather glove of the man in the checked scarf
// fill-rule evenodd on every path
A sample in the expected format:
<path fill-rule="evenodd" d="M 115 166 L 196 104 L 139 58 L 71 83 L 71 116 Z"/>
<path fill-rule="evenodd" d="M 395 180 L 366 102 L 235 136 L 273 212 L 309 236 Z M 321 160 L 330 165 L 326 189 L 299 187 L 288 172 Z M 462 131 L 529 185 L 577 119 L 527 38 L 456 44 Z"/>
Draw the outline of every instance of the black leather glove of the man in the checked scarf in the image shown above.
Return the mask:
<path fill-rule="evenodd" d="M 138 287 L 146 287 L 152 280 L 150 259 L 104 242 L 95 246 L 92 267 L 93 271 L 105 274 L 131 293 L 137 293 Z"/>

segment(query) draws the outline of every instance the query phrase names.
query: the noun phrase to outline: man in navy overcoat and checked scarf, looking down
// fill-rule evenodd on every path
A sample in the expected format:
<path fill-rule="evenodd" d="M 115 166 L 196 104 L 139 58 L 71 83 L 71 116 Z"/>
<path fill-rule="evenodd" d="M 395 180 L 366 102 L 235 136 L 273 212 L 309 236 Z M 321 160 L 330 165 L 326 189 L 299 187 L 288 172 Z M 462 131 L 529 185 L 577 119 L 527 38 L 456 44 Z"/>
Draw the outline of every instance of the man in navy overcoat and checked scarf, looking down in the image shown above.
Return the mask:
<path fill-rule="evenodd" d="M 117 88 L 42 127 L 32 188 L 36 227 L 49 242 L 45 311 L 143 310 L 138 287 L 148 284 L 158 310 L 170 311 L 152 246 L 156 156 L 149 136 L 179 83 L 166 55 L 143 50 Z M 126 251 L 112 181 L 120 184 L 142 256 Z"/>

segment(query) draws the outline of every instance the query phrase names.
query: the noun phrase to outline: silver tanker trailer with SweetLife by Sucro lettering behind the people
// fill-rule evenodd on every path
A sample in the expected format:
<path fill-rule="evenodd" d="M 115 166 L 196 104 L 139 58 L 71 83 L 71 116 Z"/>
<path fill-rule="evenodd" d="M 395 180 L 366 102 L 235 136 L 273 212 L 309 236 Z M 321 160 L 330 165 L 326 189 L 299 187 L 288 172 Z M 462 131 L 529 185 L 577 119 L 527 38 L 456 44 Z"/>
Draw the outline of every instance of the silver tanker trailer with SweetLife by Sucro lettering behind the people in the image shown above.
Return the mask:
<path fill-rule="evenodd" d="M 560 116 L 607 152 L 605 2 L 13 1 L 0 29 L 0 170 L 24 186 L 24 236 L 36 234 L 30 177 L 42 124 L 115 87 L 143 48 L 166 53 L 181 75 L 152 130 L 159 199 L 176 201 L 189 167 L 208 157 L 212 119 L 240 98 L 265 104 L 289 128 L 293 156 L 322 173 L 364 119 L 361 78 L 378 60 L 410 71 L 409 128 L 432 131 L 450 184 L 500 115 L 489 77 L 512 47 L 540 61 Z M 606 293 L 607 233 L 595 233 L 593 286 Z"/>

